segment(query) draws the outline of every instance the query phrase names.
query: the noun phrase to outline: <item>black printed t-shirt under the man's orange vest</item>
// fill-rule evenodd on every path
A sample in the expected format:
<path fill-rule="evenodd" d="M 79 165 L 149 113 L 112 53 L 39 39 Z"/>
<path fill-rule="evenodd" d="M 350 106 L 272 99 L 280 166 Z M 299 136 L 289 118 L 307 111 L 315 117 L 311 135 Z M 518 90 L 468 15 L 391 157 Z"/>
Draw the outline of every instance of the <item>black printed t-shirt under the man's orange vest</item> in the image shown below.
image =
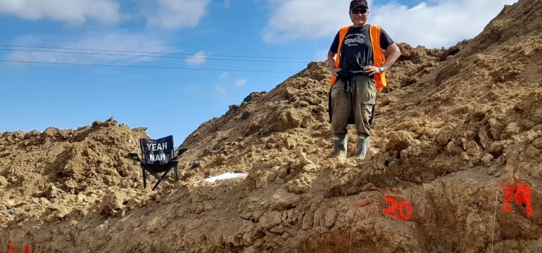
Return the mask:
<path fill-rule="evenodd" d="M 346 37 L 343 40 L 343 46 L 341 46 L 341 67 L 342 70 L 351 70 L 353 72 L 363 72 L 363 67 L 367 65 L 374 65 L 372 57 L 372 44 L 369 35 L 370 25 L 364 25 L 363 27 L 350 27 L 346 32 Z M 393 44 L 393 39 L 380 30 L 380 47 L 382 49 L 388 48 Z M 335 39 L 329 51 L 337 53 L 339 48 L 339 32 L 337 32 Z"/>

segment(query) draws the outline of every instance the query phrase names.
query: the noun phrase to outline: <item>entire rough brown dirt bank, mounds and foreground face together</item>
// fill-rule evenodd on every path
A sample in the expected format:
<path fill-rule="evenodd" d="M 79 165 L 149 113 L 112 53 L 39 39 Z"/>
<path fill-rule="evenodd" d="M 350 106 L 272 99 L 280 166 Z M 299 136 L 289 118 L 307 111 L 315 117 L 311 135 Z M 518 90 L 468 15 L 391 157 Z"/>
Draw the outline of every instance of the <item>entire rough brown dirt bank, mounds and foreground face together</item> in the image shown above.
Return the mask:
<path fill-rule="evenodd" d="M 0 236 L 58 252 L 540 252 L 540 24 L 542 1 L 522 0 L 448 50 L 401 44 L 362 162 L 332 158 L 325 63 L 202 124 L 156 192 L 125 158 L 144 129 L 0 134 Z M 202 181 L 225 172 L 248 176 Z"/>

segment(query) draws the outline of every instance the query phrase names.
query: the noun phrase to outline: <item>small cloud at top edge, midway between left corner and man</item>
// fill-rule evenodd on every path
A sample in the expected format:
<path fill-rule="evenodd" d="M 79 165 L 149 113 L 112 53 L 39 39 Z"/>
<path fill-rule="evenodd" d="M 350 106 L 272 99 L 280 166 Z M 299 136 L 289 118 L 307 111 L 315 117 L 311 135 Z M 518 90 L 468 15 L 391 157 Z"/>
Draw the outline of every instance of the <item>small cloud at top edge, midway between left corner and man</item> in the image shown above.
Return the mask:
<path fill-rule="evenodd" d="M 148 25 L 164 29 L 196 27 L 206 13 L 210 0 L 158 0 L 147 14 Z"/>

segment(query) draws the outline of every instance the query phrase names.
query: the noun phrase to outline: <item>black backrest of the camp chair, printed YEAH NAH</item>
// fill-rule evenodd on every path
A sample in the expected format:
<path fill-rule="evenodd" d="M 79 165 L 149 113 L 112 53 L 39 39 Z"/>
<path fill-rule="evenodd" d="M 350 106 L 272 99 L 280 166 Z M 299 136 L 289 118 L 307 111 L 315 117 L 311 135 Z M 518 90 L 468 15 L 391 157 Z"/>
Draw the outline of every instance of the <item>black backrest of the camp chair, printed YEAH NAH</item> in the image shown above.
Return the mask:
<path fill-rule="evenodd" d="M 173 136 L 159 139 L 139 139 L 144 164 L 167 164 L 173 157 Z"/>

